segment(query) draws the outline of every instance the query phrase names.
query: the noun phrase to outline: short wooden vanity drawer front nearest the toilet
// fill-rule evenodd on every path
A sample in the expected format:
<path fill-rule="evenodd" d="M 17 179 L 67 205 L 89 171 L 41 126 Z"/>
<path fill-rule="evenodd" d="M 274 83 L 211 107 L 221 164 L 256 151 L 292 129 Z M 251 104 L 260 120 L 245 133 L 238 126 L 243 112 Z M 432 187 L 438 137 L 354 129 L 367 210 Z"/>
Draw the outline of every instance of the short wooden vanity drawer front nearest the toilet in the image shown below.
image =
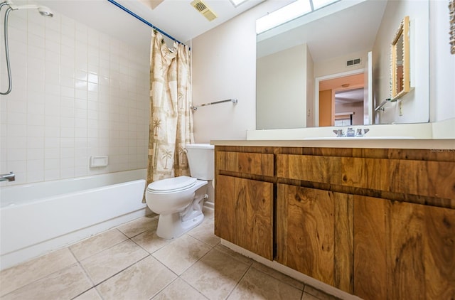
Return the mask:
<path fill-rule="evenodd" d="M 216 166 L 220 171 L 274 176 L 274 155 L 217 151 Z"/>

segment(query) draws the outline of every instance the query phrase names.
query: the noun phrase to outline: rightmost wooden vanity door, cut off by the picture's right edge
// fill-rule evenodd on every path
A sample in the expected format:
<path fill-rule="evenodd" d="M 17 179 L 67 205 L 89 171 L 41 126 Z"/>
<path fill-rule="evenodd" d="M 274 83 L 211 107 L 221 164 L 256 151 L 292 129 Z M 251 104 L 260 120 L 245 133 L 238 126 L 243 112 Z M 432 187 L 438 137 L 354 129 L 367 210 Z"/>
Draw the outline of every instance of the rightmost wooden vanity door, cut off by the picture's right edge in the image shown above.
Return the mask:
<path fill-rule="evenodd" d="M 354 199 L 354 294 L 365 299 L 453 299 L 455 210 Z"/>

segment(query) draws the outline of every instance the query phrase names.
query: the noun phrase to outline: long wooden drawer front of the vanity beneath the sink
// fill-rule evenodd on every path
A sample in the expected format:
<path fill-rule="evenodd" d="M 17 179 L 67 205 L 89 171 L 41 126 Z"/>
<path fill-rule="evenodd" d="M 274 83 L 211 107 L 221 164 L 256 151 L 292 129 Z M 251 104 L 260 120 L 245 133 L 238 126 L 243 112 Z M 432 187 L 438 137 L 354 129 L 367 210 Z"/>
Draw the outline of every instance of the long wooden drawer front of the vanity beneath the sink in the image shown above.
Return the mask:
<path fill-rule="evenodd" d="M 277 176 L 392 193 L 455 199 L 455 162 L 277 155 Z"/>

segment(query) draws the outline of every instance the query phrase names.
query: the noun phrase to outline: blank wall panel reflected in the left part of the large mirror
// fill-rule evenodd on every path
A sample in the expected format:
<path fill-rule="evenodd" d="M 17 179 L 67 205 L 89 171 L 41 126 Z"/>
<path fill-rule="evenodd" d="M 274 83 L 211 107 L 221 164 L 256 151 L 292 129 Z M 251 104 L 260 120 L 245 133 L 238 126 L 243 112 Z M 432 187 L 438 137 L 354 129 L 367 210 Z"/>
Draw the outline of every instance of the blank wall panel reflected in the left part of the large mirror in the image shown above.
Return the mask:
<path fill-rule="evenodd" d="M 256 129 L 306 127 L 306 52 L 304 44 L 257 58 Z"/>

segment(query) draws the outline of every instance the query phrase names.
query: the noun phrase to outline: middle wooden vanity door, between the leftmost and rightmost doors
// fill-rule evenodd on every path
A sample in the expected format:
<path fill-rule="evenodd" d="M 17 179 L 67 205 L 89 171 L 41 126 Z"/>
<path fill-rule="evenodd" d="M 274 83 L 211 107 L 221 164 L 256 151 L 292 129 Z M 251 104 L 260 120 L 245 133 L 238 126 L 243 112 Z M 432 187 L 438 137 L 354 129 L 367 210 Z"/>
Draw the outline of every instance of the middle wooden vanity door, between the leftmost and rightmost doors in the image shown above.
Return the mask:
<path fill-rule="evenodd" d="M 278 184 L 277 262 L 352 293 L 351 198 Z"/>

